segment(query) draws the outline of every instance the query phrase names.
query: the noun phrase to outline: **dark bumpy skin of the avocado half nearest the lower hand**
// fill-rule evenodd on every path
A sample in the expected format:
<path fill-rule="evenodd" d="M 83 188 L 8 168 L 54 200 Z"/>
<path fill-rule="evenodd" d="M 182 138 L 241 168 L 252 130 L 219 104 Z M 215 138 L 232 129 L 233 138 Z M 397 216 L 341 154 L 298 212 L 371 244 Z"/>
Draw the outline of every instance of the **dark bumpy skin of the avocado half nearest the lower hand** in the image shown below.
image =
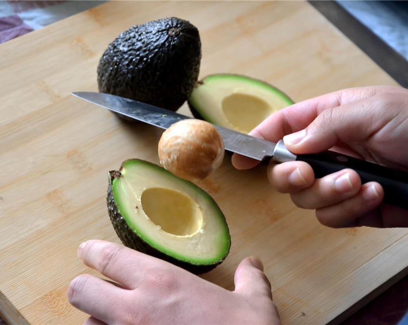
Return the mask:
<path fill-rule="evenodd" d="M 118 235 L 118 238 L 122 241 L 122 243 L 126 247 L 135 249 L 136 251 L 140 251 L 144 254 L 154 256 L 156 258 L 160 258 L 162 260 L 170 262 L 196 275 L 207 273 L 211 271 L 212 269 L 215 269 L 215 267 L 217 267 L 219 264 L 221 264 L 224 261 L 224 259 L 229 253 L 229 250 L 228 250 L 225 256 L 214 264 L 195 265 L 195 264 L 190 264 L 188 262 L 177 260 L 171 256 L 168 256 L 162 253 L 161 251 L 158 251 L 154 247 L 151 247 L 149 244 L 144 242 L 142 238 L 137 236 L 137 234 L 129 228 L 129 226 L 126 224 L 126 221 L 124 220 L 122 215 L 119 213 L 118 206 L 116 205 L 115 199 L 113 198 L 111 177 L 109 177 L 109 185 L 108 185 L 106 203 L 108 205 L 108 214 L 111 219 L 113 229 L 115 229 L 115 232 Z"/>

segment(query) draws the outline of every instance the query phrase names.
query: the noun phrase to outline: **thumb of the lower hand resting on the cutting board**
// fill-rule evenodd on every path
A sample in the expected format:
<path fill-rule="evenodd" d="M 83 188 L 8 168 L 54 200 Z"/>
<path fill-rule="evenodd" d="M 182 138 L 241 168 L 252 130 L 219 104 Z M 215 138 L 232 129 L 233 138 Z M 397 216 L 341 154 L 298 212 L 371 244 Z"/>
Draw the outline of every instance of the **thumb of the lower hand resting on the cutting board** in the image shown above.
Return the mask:
<path fill-rule="evenodd" d="M 271 283 L 263 272 L 259 258 L 251 256 L 239 263 L 235 271 L 235 291 L 244 296 L 266 296 L 272 299 Z"/>

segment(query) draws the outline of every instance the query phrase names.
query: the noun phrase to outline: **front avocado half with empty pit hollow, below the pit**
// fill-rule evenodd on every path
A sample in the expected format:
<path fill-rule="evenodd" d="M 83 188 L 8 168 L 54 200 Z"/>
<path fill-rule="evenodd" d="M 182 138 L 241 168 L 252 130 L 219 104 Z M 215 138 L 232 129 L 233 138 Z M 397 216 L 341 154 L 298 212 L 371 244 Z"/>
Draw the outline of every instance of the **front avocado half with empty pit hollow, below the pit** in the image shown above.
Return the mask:
<path fill-rule="evenodd" d="M 108 212 L 122 243 L 201 274 L 222 263 L 231 238 L 204 190 L 164 168 L 128 159 L 109 172 Z"/>

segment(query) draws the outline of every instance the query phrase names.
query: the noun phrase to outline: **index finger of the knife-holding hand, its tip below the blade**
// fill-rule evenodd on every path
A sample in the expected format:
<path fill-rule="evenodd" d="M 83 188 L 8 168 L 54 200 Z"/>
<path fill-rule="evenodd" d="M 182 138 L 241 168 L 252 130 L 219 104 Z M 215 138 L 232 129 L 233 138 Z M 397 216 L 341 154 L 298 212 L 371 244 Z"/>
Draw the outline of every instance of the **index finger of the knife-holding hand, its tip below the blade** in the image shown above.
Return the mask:
<path fill-rule="evenodd" d="M 373 96 L 377 92 L 378 87 L 357 87 L 307 99 L 271 114 L 249 134 L 277 142 L 286 134 L 306 128 L 322 111 Z M 238 154 L 232 156 L 232 164 L 237 169 L 252 168 L 258 163 L 259 161 Z"/>

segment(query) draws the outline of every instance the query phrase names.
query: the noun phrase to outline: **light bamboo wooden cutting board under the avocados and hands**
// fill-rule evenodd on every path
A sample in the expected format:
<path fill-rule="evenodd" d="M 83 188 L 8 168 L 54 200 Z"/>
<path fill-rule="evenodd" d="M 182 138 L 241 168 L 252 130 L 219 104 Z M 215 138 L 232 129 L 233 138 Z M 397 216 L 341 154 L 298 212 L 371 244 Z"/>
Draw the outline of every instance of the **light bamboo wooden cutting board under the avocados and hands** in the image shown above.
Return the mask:
<path fill-rule="evenodd" d="M 81 324 L 67 302 L 76 257 L 91 238 L 120 243 L 107 215 L 106 173 L 124 159 L 158 163 L 161 130 L 134 128 L 72 91 L 96 91 L 106 46 L 134 24 L 177 16 L 200 30 L 200 78 L 264 79 L 295 101 L 395 81 L 307 2 L 109 2 L 0 46 L 0 290 L 33 324 Z M 184 105 L 180 112 L 190 115 Z M 242 258 L 265 264 L 284 324 L 339 321 L 405 274 L 405 229 L 329 229 L 276 193 L 265 166 L 228 156 L 198 183 L 231 236 L 225 262 L 203 277 L 233 289 Z M 403 272 L 401 272 L 403 271 Z"/>

